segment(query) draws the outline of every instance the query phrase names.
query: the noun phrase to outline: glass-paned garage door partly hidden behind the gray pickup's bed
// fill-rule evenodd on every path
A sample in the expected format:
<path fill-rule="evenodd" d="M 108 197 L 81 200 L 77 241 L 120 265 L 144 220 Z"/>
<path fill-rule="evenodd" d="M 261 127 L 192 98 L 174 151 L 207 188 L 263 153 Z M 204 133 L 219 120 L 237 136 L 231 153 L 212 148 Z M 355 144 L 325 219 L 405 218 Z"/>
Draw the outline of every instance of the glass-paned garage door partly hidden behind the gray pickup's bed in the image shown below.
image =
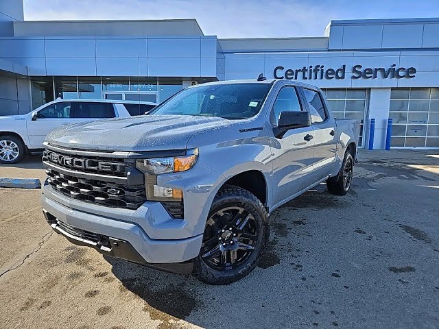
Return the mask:
<path fill-rule="evenodd" d="M 336 119 L 357 119 L 359 122 L 359 145 L 363 145 L 364 120 L 366 117 L 367 90 L 363 88 L 327 88 L 329 108 Z"/>

